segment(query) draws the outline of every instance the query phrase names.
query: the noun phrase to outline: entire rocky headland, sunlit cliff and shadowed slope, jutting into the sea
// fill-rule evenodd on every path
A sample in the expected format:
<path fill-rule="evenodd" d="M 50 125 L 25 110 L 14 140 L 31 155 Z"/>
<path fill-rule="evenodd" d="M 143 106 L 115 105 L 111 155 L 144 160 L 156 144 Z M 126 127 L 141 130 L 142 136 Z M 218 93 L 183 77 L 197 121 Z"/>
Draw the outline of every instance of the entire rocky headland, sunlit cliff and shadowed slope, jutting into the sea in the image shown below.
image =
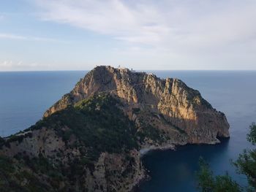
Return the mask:
<path fill-rule="evenodd" d="M 228 129 L 181 80 L 97 66 L 34 126 L 0 137 L 0 191 L 132 191 L 146 151 L 215 144 Z"/>

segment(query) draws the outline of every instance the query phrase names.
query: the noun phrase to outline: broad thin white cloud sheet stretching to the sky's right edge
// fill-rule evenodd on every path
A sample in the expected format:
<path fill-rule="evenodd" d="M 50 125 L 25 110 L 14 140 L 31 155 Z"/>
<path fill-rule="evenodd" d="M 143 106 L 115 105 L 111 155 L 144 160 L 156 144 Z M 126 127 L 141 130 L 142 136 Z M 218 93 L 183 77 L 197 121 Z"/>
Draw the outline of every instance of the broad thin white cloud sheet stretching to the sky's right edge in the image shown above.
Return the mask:
<path fill-rule="evenodd" d="M 194 50 L 256 37 L 256 1 L 37 0 L 44 20 L 132 44 Z"/>

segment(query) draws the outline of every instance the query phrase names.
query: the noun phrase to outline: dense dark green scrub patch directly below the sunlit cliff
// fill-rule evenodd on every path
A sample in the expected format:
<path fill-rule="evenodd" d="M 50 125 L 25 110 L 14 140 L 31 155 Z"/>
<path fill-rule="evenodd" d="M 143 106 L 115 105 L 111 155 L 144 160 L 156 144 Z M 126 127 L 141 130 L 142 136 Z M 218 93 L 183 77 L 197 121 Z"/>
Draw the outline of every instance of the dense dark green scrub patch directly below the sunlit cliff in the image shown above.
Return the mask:
<path fill-rule="evenodd" d="M 30 129 L 53 128 L 65 142 L 74 135 L 92 148 L 94 155 L 138 148 L 135 123 L 124 115 L 118 104 L 117 99 L 107 94 L 93 96 L 53 113 Z"/>

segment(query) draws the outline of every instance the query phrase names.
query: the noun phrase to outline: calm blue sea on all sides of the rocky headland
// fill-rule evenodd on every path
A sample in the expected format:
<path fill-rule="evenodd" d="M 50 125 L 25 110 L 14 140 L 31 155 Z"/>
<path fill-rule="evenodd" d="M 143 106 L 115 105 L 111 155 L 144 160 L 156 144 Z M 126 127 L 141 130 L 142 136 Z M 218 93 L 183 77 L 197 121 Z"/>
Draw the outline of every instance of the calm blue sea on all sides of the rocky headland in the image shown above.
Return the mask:
<path fill-rule="evenodd" d="M 149 71 L 148 71 L 149 72 Z M 200 91 L 204 99 L 225 113 L 230 139 L 219 145 L 185 145 L 176 150 L 152 151 L 143 156 L 151 177 L 140 183 L 143 192 L 198 191 L 196 172 L 203 157 L 214 174 L 230 174 L 242 186 L 246 177 L 230 164 L 245 148 L 249 125 L 256 121 L 256 71 L 151 71 L 176 77 Z M 86 71 L 0 72 L 0 136 L 7 137 L 33 125 L 45 110 L 69 93 Z"/>

